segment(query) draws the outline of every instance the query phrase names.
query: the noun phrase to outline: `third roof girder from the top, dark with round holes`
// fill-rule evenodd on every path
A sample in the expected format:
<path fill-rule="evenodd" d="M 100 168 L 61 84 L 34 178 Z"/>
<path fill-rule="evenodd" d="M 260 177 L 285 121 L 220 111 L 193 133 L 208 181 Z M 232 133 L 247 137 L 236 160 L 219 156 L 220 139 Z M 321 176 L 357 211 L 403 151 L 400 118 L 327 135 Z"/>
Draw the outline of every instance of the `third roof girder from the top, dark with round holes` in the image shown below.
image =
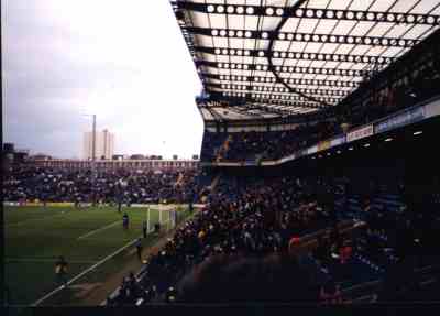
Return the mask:
<path fill-rule="evenodd" d="M 219 48 L 219 47 L 215 48 L 205 46 L 196 46 L 195 50 L 200 53 L 207 53 L 213 55 L 264 57 L 270 54 L 270 52 L 263 50 L 234 50 L 234 48 Z M 274 51 L 272 53 L 272 57 L 293 59 L 293 61 L 305 59 L 305 61 L 319 61 L 319 62 L 339 62 L 339 63 L 348 62 L 348 63 L 359 63 L 359 64 L 364 63 L 364 64 L 378 64 L 378 65 L 387 65 L 396 59 L 383 56 L 284 52 L 284 51 Z"/>

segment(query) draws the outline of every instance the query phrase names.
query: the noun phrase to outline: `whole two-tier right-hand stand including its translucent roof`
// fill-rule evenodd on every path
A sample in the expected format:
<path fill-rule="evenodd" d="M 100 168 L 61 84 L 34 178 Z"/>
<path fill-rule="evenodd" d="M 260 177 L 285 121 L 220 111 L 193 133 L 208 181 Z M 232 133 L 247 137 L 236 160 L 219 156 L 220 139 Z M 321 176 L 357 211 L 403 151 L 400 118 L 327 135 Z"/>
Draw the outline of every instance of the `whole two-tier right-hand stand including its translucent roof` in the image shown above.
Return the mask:
<path fill-rule="evenodd" d="M 439 154 L 424 154 L 440 115 L 438 6 L 266 2 L 172 1 L 204 83 L 201 167 L 216 185 L 129 301 L 438 299 Z"/>

